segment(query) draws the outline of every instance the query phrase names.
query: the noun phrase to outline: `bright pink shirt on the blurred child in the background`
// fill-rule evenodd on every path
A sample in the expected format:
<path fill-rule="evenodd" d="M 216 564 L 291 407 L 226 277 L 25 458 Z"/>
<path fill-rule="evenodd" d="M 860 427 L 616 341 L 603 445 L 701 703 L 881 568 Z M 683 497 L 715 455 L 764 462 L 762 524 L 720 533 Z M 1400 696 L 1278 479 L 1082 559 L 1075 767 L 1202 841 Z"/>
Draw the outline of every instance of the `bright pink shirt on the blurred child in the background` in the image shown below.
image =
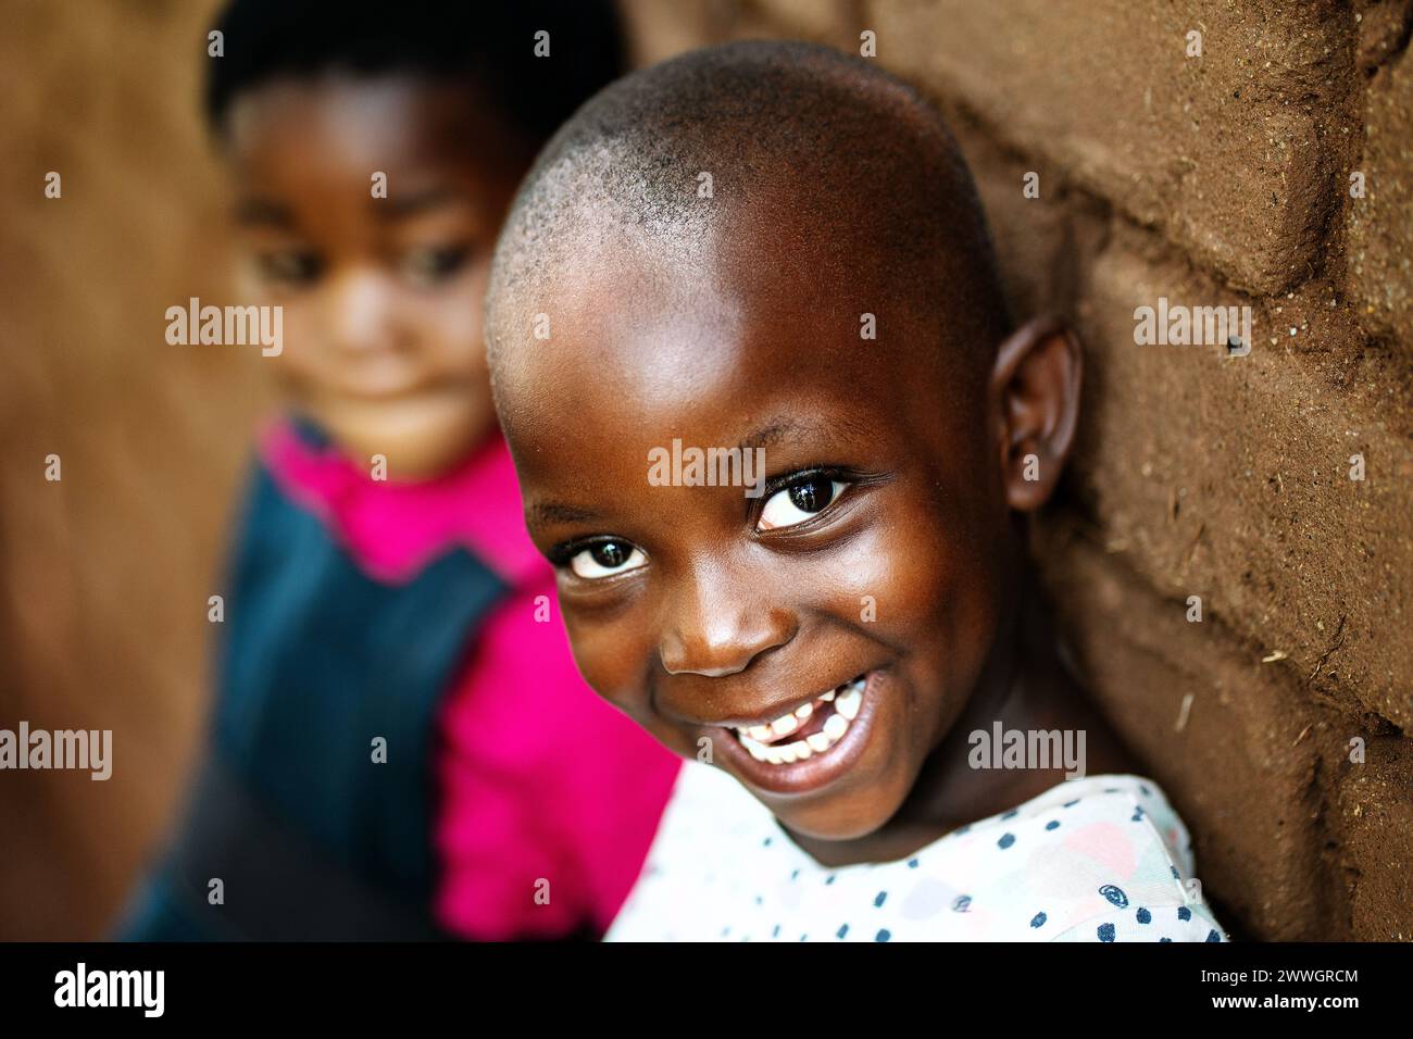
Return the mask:
<path fill-rule="evenodd" d="M 526 533 L 499 431 L 458 469 L 418 482 L 373 481 L 283 423 L 263 437 L 261 455 L 370 577 L 407 580 L 462 546 L 509 585 L 468 632 L 468 660 L 439 711 L 438 922 L 483 940 L 555 937 L 585 920 L 606 930 L 680 762 L 579 676 L 554 570 Z"/>

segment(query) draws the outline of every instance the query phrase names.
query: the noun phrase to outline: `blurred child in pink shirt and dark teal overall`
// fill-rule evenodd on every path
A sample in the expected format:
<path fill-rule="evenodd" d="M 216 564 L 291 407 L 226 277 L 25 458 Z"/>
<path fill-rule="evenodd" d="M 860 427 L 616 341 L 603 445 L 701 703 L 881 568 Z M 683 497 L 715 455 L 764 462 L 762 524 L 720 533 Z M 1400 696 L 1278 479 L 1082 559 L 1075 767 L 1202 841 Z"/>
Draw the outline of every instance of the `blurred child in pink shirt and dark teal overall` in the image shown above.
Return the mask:
<path fill-rule="evenodd" d="M 240 520 L 209 759 L 123 937 L 601 934 L 677 763 L 584 686 L 482 336 L 608 3 L 235 0 L 206 113 L 291 416 Z"/>

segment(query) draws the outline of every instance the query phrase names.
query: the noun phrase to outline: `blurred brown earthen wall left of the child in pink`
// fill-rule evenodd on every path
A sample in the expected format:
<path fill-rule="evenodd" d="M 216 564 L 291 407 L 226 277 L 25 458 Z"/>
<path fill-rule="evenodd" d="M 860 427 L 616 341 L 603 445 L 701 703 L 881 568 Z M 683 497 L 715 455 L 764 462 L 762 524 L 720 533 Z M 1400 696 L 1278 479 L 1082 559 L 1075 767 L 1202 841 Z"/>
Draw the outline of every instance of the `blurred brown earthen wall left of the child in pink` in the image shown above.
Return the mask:
<path fill-rule="evenodd" d="M 105 933 L 209 701 L 206 597 L 268 399 L 259 353 L 165 342 L 167 307 L 229 295 L 212 7 L 0 0 L 0 727 L 113 731 L 106 782 L 0 772 L 0 939 Z"/>

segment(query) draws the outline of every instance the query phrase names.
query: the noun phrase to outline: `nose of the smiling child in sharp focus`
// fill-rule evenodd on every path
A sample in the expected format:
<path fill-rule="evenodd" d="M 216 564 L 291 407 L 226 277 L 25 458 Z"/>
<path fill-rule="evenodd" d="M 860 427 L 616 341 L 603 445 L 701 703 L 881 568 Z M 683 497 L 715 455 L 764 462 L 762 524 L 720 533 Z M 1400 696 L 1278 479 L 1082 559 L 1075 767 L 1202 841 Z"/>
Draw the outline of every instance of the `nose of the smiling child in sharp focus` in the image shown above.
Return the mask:
<path fill-rule="evenodd" d="M 658 642 L 668 674 L 735 674 L 796 633 L 788 611 L 770 608 L 716 564 L 699 567 L 670 609 Z"/>

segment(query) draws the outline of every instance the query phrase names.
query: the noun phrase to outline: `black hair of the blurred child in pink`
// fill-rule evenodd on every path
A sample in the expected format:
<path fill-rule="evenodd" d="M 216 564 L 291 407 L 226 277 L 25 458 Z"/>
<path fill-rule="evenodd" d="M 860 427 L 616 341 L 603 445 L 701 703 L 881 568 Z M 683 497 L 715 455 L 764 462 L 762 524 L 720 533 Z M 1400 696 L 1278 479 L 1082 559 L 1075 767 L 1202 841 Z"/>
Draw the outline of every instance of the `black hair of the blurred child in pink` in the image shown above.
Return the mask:
<path fill-rule="evenodd" d="M 346 71 L 466 78 L 513 129 L 538 144 L 625 71 L 612 0 L 232 0 L 215 28 L 205 109 L 215 131 L 232 102 L 273 79 Z M 536 33 L 550 57 L 536 57 Z"/>

